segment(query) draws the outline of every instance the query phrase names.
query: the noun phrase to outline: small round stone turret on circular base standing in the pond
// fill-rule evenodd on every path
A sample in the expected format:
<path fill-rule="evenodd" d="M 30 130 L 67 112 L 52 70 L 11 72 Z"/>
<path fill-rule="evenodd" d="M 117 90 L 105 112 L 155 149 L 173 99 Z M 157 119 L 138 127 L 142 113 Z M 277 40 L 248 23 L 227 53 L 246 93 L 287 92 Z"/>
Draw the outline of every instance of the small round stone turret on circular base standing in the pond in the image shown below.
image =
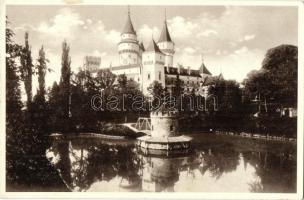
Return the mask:
<path fill-rule="evenodd" d="M 137 145 L 147 153 L 154 150 L 180 151 L 190 149 L 191 137 L 181 135 L 178 129 L 179 112 L 167 110 L 165 105 L 150 113 L 151 135 L 138 138 Z"/>

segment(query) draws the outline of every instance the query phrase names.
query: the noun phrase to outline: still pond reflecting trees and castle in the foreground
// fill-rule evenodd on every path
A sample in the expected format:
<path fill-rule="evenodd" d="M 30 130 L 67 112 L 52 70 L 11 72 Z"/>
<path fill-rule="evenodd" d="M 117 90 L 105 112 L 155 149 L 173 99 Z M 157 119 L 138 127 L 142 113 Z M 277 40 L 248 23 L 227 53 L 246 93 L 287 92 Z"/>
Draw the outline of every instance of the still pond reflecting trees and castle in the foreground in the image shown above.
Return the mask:
<path fill-rule="evenodd" d="M 53 140 L 46 156 L 70 191 L 296 192 L 296 145 L 194 135 L 191 152 L 145 155 L 136 140 Z"/>

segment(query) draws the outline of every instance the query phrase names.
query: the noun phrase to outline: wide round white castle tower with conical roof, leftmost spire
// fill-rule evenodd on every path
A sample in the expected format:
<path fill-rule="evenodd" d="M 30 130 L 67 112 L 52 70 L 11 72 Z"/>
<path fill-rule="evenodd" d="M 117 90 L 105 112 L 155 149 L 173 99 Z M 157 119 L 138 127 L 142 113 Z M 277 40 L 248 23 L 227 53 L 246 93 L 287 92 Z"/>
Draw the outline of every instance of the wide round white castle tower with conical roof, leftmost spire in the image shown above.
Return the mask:
<path fill-rule="evenodd" d="M 139 43 L 136 31 L 132 24 L 130 9 L 128 7 L 127 22 L 121 33 L 121 40 L 118 43 L 119 64 L 132 65 L 141 63 L 139 51 Z"/>

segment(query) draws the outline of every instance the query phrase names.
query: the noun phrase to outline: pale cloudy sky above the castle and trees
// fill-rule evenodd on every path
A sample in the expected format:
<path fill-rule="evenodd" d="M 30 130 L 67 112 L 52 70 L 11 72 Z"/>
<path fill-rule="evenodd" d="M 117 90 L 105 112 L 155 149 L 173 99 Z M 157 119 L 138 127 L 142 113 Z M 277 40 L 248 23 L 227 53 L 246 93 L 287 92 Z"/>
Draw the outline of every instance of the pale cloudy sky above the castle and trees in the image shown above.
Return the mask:
<path fill-rule="evenodd" d="M 46 85 L 60 79 L 61 46 L 70 46 L 72 70 L 86 55 L 101 57 L 101 67 L 118 65 L 117 43 L 127 18 L 127 6 L 29 6 L 6 8 L 14 40 L 24 44 L 29 32 L 32 57 L 44 46 L 48 67 Z M 130 6 L 139 41 L 157 41 L 166 18 L 175 43 L 174 66 L 198 69 L 202 63 L 213 75 L 241 82 L 260 69 L 266 51 L 281 44 L 298 44 L 298 8 L 294 6 Z M 35 79 L 34 79 L 35 80 Z M 37 80 L 33 83 L 37 86 Z"/>

